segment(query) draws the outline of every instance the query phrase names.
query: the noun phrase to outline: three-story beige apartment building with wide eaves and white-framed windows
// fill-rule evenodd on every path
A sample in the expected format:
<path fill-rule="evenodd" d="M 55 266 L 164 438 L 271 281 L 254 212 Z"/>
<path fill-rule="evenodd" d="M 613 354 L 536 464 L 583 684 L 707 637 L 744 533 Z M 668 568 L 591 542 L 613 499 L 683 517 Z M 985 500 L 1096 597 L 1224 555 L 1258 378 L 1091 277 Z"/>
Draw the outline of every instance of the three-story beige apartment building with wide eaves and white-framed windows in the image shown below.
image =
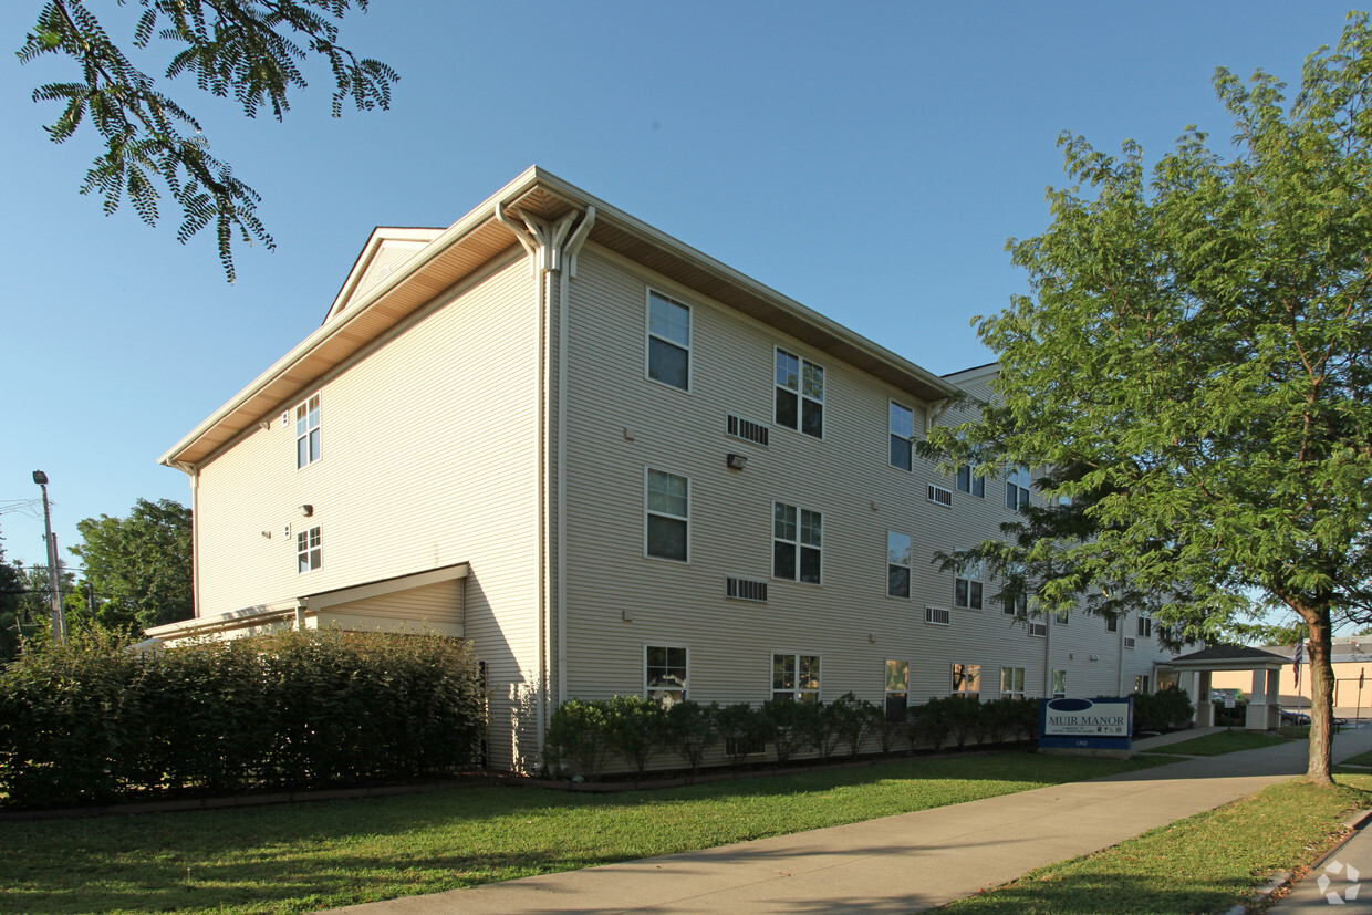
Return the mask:
<path fill-rule="evenodd" d="M 572 697 L 1154 686 L 1147 617 L 1026 619 L 932 562 L 1037 498 L 914 449 L 993 376 L 938 377 L 532 167 L 447 229 L 377 229 L 324 324 L 161 458 L 191 479 L 196 617 L 150 635 L 466 638 L 516 768 Z"/>

